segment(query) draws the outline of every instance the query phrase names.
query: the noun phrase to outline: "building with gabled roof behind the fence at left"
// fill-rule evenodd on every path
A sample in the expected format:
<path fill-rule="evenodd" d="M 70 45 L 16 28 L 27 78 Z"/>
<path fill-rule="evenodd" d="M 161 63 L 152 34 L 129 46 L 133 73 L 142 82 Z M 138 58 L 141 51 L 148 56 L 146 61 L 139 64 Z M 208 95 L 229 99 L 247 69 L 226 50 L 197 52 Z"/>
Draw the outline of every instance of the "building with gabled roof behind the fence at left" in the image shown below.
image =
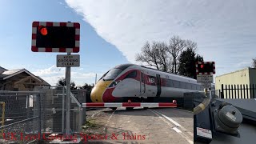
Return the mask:
<path fill-rule="evenodd" d="M 35 86 L 50 86 L 26 69 L 6 70 L 0 66 L 0 90 L 34 90 Z"/>

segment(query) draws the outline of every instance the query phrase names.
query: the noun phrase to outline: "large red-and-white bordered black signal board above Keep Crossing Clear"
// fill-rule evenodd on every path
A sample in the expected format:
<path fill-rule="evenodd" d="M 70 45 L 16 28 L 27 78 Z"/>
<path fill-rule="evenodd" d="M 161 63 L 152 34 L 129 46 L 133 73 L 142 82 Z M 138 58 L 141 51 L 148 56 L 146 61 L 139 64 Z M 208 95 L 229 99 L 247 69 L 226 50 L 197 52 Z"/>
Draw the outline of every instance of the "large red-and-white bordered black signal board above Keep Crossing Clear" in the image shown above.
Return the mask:
<path fill-rule="evenodd" d="M 74 33 L 70 34 L 72 39 L 74 39 L 74 42 L 71 42 L 70 46 L 63 46 L 55 44 L 56 47 L 51 47 L 50 43 L 49 45 L 43 46 L 41 42 L 41 45 L 39 45 L 37 41 L 41 41 L 42 38 L 38 36 L 38 33 L 41 33 L 42 35 L 47 34 L 47 28 L 54 31 L 52 29 L 53 27 L 67 27 L 67 28 L 74 28 Z M 40 29 L 40 30 L 39 30 Z M 65 34 L 65 33 L 62 33 Z M 55 34 L 56 35 L 56 34 Z M 74 37 L 74 38 L 73 38 Z M 50 39 L 48 37 L 48 39 Z M 64 42 L 62 39 L 58 40 L 61 42 Z M 47 43 L 47 42 L 45 42 Z M 58 42 L 56 42 L 58 43 Z M 79 52 L 79 46 L 80 46 L 80 24 L 78 22 L 33 22 L 32 23 L 32 44 L 31 44 L 31 50 L 33 52 L 58 52 L 58 53 L 78 53 Z"/>

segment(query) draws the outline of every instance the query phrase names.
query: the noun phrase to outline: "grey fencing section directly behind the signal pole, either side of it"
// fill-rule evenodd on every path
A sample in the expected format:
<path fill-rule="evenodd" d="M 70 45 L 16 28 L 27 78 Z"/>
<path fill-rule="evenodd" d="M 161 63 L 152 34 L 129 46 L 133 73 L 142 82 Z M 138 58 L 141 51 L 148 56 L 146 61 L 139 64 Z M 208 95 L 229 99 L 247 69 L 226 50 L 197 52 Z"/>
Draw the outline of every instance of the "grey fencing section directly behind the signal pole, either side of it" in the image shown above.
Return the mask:
<path fill-rule="evenodd" d="M 66 88 L 64 86 L 37 87 L 42 91 L 42 132 L 63 134 L 65 132 Z M 72 97 L 73 96 L 73 97 Z M 79 133 L 86 117 L 81 103 L 86 100 L 86 90 L 71 90 L 70 131 Z M 79 106 L 80 105 L 80 106 Z"/>

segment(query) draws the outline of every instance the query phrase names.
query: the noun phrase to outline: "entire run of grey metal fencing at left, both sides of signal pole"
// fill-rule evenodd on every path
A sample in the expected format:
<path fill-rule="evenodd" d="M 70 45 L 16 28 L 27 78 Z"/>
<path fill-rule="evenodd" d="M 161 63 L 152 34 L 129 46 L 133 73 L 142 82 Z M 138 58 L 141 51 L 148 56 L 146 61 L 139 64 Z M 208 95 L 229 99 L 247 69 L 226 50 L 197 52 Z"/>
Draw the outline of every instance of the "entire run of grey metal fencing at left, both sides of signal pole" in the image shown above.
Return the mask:
<path fill-rule="evenodd" d="M 70 131 L 80 133 L 86 111 L 81 103 L 86 102 L 86 90 L 72 90 L 70 105 Z M 65 87 L 36 87 L 35 91 L 0 91 L 0 131 L 2 138 L 20 143 L 32 141 L 41 134 L 65 132 L 66 89 Z M 41 111 L 41 113 L 39 113 Z M 0 123 L 2 124 L 2 123 Z M 42 135 L 41 135 L 42 136 Z M 41 137 L 42 138 L 42 137 Z"/>

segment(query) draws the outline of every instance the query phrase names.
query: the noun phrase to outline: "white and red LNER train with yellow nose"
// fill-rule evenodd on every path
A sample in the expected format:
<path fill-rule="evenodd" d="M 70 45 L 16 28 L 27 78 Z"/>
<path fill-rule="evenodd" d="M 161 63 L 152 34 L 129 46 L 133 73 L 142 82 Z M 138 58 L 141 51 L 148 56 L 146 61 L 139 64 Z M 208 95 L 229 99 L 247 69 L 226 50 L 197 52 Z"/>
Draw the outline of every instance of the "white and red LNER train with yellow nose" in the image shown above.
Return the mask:
<path fill-rule="evenodd" d="M 186 92 L 202 90 L 201 84 L 193 78 L 122 64 L 103 74 L 91 91 L 90 99 L 92 102 L 153 102 L 182 98 Z"/>

